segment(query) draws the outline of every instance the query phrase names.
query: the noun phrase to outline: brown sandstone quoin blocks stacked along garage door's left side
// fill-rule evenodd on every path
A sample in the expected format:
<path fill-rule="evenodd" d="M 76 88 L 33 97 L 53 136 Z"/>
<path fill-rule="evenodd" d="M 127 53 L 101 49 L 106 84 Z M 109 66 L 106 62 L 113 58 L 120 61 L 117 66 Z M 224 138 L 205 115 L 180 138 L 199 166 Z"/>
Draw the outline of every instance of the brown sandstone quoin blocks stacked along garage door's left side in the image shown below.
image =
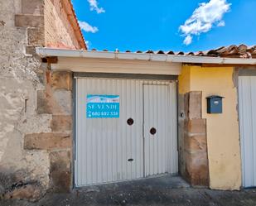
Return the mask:
<path fill-rule="evenodd" d="M 27 151 L 47 151 L 50 188 L 67 192 L 71 187 L 72 74 L 46 70 L 46 87 L 37 90 L 36 113 L 51 115 L 50 132 L 30 132 L 24 137 Z"/>

